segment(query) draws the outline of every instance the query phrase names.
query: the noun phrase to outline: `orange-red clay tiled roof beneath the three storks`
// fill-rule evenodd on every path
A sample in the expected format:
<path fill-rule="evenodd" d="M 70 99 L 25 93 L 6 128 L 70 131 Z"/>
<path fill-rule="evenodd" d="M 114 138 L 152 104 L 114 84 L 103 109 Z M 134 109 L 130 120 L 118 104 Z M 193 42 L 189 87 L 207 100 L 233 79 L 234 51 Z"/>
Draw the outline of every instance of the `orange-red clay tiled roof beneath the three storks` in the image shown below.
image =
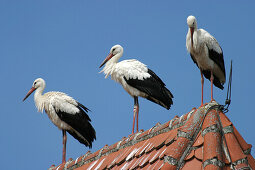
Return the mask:
<path fill-rule="evenodd" d="M 216 102 L 86 153 L 60 169 L 255 169 L 251 145 Z"/>

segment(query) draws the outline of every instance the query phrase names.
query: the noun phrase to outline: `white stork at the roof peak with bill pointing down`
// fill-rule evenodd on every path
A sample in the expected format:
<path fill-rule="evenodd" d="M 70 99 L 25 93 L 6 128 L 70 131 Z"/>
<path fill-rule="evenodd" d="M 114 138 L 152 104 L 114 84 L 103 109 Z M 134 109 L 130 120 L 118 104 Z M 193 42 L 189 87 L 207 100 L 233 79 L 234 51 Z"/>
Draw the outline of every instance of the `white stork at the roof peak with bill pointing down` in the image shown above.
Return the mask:
<path fill-rule="evenodd" d="M 194 16 L 187 18 L 189 30 L 186 36 L 186 47 L 190 56 L 201 73 L 202 99 L 204 78 L 211 81 L 211 101 L 213 101 L 213 84 L 223 90 L 226 81 L 225 65 L 222 49 L 217 40 L 203 29 L 197 29 L 197 20 Z"/>

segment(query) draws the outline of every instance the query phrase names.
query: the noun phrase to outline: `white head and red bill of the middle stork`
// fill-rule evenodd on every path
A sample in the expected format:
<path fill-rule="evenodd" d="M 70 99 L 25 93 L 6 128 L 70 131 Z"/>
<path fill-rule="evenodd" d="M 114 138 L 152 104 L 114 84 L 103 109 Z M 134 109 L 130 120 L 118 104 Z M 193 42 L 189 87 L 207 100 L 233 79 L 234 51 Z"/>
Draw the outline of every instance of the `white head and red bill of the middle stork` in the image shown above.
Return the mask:
<path fill-rule="evenodd" d="M 99 68 L 101 68 L 105 63 L 107 63 L 109 60 L 113 60 L 115 62 L 117 62 L 119 60 L 119 58 L 122 56 L 123 54 L 123 47 L 121 45 L 115 45 L 111 48 L 109 55 L 105 58 L 105 60 L 103 61 L 103 63 L 99 66 Z"/>

